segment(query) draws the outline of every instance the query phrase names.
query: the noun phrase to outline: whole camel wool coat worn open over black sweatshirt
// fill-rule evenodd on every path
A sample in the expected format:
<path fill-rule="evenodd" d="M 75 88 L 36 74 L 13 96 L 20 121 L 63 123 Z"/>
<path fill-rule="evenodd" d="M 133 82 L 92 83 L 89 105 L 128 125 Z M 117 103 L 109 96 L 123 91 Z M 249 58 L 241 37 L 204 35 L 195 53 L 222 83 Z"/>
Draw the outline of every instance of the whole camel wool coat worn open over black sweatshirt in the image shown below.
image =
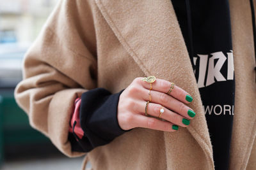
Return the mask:
<path fill-rule="evenodd" d="M 256 4 L 256 3 L 254 3 Z M 256 78 L 250 1 L 230 0 L 236 98 L 230 169 L 256 169 Z M 91 152 L 72 152 L 74 101 L 112 93 L 138 76 L 172 81 L 193 97 L 196 117 L 177 132 L 136 127 Z M 26 53 L 15 99 L 31 126 L 92 169 L 214 169 L 195 74 L 170 0 L 62 0 Z M 220 94 L 221 96 L 221 94 Z"/>

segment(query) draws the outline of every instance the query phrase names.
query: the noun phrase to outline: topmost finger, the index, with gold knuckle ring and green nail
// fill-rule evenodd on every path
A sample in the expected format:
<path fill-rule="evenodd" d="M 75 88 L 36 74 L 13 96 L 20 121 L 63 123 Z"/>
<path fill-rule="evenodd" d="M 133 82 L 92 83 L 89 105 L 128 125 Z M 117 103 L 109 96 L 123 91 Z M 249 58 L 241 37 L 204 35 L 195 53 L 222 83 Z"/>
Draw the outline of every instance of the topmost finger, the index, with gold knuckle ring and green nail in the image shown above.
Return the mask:
<path fill-rule="evenodd" d="M 141 83 L 145 89 L 150 89 L 150 83 L 148 83 L 147 81 L 143 81 L 143 80 L 141 80 Z M 156 90 L 156 91 L 163 92 L 166 94 L 168 93 L 168 91 L 170 90 L 171 85 L 172 85 L 172 83 L 170 81 L 163 80 L 161 78 L 156 78 L 156 81 L 154 81 L 151 84 L 152 84 L 151 90 Z M 173 86 L 172 92 L 170 92 L 169 95 L 172 97 L 175 97 L 176 99 L 178 99 L 179 101 L 181 101 L 183 103 L 189 104 L 189 103 L 191 103 L 191 101 L 193 101 L 193 98 L 191 97 L 191 95 L 177 85 Z"/>

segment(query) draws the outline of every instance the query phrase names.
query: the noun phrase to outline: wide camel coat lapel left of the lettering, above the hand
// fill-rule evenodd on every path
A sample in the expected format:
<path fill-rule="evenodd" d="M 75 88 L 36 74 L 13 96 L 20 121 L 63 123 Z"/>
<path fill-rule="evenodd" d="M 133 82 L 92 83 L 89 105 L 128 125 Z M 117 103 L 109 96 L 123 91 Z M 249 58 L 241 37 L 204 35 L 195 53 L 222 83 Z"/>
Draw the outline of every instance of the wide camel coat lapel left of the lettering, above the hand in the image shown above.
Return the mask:
<path fill-rule="evenodd" d="M 95 1 L 120 43 L 146 76 L 173 81 L 193 96 L 189 107 L 195 110 L 196 117 L 187 129 L 213 167 L 204 108 L 171 1 Z M 164 136 L 168 141 L 168 132 Z"/>

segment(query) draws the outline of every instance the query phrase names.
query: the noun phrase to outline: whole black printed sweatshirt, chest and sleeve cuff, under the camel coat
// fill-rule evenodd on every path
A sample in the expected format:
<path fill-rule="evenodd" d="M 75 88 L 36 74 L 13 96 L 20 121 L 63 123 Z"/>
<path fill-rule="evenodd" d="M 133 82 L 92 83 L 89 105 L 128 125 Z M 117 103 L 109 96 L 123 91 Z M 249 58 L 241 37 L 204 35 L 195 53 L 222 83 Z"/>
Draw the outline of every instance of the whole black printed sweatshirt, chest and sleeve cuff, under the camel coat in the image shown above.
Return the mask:
<path fill-rule="evenodd" d="M 204 105 L 215 169 L 228 169 L 235 97 L 228 0 L 171 1 Z M 254 17 L 252 1 L 251 7 Z M 90 152 L 127 132 L 120 128 L 116 118 L 118 100 L 123 90 L 116 94 L 103 88 L 84 92 L 80 108 L 84 136 L 79 139 L 76 134 L 69 134 L 72 150 Z"/>

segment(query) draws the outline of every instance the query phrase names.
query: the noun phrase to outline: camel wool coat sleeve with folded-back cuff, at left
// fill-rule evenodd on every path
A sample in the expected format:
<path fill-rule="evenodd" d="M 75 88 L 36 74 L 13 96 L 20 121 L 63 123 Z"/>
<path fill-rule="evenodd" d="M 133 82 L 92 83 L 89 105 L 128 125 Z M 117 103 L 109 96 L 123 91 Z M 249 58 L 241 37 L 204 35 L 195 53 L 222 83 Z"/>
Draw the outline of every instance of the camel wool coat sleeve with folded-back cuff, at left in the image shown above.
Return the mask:
<path fill-rule="evenodd" d="M 68 127 L 74 101 L 97 87 L 93 1 L 61 0 L 24 57 L 15 99 L 29 124 L 68 157 Z"/>

